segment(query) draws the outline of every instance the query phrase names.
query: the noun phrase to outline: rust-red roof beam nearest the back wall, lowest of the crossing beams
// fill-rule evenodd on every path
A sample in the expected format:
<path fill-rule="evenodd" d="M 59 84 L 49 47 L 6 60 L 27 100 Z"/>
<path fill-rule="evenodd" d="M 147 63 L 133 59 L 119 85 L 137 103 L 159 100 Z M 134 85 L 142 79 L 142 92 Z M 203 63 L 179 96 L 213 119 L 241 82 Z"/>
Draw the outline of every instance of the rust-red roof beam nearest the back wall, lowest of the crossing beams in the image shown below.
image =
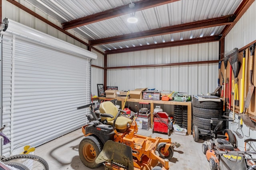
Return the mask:
<path fill-rule="evenodd" d="M 206 42 L 219 41 L 220 38 L 221 38 L 220 35 L 214 35 L 214 36 L 201 37 L 201 38 L 184 39 L 184 40 L 171 41 L 166 43 L 157 43 L 157 44 L 150 44 L 150 45 L 142 45 L 138 47 L 128 47 L 123 49 L 107 50 L 105 51 L 105 54 L 127 53 L 132 51 L 141 51 L 141 50 L 148 50 L 148 49 L 174 47 L 174 46 L 180 46 L 180 45 L 206 43 Z"/>

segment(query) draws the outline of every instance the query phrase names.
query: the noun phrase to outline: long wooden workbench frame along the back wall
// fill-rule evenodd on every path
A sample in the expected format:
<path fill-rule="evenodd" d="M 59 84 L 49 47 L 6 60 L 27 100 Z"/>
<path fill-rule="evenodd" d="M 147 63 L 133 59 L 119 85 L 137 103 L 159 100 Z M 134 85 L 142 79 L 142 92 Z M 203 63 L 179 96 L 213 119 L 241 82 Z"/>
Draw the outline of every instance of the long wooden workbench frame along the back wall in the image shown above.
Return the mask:
<path fill-rule="evenodd" d="M 122 102 L 121 108 L 124 106 L 125 98 L 104 98 L 99 97 L 99 100 L 118 100 Z M 177 102 L 177 101 L 162 101 L 162 100 L 142 100 L 142 99 L 127 99 L 126 102 L 144 102 L 150 104 L 150 127 L 152 128 L 153 125 L 153 112 L 154 112 L 154 104 L 169 104 L 169 105 L 182 105 L 188 106 L 188 135 L 191 135 L 191 117 L 192 117 L 192 103 L 191 102 Z"/>

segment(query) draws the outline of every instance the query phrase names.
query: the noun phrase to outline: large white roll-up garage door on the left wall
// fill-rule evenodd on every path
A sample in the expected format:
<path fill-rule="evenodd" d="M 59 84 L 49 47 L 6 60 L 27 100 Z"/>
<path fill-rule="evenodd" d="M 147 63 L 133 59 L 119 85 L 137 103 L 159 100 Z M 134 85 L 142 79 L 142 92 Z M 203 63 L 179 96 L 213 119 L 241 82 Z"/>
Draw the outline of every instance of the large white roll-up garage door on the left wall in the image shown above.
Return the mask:
<path fill-rule="evenodd" d="M 39 146 L 86 123 L 96 55 L 8 20 L 2 37 L 2 154 Z"/>

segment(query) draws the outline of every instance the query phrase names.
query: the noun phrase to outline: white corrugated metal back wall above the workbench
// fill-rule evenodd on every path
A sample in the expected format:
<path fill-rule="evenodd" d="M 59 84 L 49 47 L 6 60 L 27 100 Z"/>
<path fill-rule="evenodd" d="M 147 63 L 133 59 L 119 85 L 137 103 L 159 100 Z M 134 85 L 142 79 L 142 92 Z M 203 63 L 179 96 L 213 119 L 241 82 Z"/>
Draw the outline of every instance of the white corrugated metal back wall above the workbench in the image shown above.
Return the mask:
<path fill-rule="evenodd" d="M 218 60 L 219 43 L 201 43 L 108 55 L 108 67 Z M 190 95 L 213 92 L 218 84 L 218 63 L 151 68 L 111 69 L 107 85 L 120 90 L 156 88 Z"/>

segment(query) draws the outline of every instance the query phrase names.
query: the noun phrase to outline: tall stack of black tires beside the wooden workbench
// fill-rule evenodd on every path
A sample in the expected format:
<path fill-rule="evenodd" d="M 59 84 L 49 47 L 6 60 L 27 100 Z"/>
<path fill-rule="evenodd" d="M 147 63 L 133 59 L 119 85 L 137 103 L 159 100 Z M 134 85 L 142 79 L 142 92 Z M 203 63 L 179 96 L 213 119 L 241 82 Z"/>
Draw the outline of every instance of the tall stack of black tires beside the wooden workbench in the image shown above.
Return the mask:
<path fill-rule="evenodd" d="M 214 101 L 199 102 L 197 98 L 193 98 L 193 137 L 194 141 L 198 141 L 199 133 L 210 133 L 211 121 L 213 128 L 219 123 L 219 120 L 212 118 L 222 118 L 222 103 Z M 222 125 L 218 127 L 222 130 Z"/>

